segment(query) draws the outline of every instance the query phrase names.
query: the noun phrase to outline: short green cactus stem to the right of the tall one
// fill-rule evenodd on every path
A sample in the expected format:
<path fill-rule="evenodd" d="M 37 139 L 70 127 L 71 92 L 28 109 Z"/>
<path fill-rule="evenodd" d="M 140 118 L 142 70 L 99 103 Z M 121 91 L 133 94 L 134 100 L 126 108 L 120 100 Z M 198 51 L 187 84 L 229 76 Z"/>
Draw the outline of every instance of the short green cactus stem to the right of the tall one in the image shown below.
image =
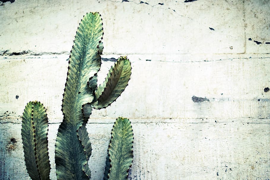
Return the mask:
<path fill-rule="evenodd" d="M 104 172 L 104 180 L 125 180 L 133 161 L 131 122 L 119 117 L 112 128 L 112 137 Z"/>

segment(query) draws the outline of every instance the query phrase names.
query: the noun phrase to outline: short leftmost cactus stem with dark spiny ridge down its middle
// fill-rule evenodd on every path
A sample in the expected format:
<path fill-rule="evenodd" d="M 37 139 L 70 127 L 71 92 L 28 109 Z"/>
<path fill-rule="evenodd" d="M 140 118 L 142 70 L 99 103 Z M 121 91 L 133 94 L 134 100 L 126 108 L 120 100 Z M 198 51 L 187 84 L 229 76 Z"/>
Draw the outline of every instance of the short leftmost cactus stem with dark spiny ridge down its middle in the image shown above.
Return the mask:
<path fill-rule="evenodd" d="M 42 103 L 32 101 L 22 117 L 22 139 L 26 169 L 32 180 L 50 179 L 48 118 Z"/>

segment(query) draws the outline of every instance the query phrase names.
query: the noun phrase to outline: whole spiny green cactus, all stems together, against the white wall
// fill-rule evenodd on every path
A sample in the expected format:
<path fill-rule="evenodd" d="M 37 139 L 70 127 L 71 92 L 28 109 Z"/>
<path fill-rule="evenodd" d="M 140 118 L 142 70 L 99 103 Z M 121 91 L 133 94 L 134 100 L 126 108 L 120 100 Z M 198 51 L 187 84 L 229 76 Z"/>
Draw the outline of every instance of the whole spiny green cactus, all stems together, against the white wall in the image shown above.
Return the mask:
<path fill-rule="evenodd" d="M 61 109 L 63 122 L 58 128 L 55 143 L 58 180 L 90 179 L 88 160 L 92 148 L 86 130 L 88 118 L 92 108 L 102 109 L 113 103 L 130 79 L 131 63 L 126 57 L 120 57 L 103 84 L 97 85 L 103 50 L 100 16 L 95 12 L 82 18 L 69 56 Z M 50 179 L 47 134 L 45 107 L 38 101 L 29 102 L 23 112 L 22 139 L 26 169 L 32 180 Z M 131 122 L 119 117 L 112 128 L 105 180 L 127 179 L 133 161 L 133 139 Z"/>

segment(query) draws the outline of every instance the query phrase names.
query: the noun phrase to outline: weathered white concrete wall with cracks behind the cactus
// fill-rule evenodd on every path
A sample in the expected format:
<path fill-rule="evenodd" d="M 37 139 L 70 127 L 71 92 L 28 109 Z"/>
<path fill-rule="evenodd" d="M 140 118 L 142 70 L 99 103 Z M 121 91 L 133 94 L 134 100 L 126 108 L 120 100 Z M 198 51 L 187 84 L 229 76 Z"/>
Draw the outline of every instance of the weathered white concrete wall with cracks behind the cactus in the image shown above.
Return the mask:
<path fill-rule="evenodd" d="M 1 1 L 0 179 L 30 179 L 20 135 L 28 101 L 49 118 L 51 178 L 67 58 L 86 12 L 103 17 L 102 82 L 114 59 L 129 86 L 88 123 L 102 179 L 115 118 L 134 129 L 128 179 L 270 179 L 270 1 Z"/>

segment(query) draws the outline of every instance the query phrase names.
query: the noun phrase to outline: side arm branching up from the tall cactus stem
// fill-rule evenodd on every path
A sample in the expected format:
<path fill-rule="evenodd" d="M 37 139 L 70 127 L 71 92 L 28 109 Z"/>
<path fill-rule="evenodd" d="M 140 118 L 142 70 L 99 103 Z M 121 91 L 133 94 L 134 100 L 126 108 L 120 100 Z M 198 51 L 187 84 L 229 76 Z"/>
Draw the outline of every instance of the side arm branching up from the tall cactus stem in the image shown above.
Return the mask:
<path fill-rule="evenodd" d="M 131 75 L 131 63 L 128 58 L 120 57 L 102 85 L 99 85 L 95 95 L 96 101 L 91 103 L 94 109 L 101 109 L 109 106 L 118 98 L 128 85 Z"/>

